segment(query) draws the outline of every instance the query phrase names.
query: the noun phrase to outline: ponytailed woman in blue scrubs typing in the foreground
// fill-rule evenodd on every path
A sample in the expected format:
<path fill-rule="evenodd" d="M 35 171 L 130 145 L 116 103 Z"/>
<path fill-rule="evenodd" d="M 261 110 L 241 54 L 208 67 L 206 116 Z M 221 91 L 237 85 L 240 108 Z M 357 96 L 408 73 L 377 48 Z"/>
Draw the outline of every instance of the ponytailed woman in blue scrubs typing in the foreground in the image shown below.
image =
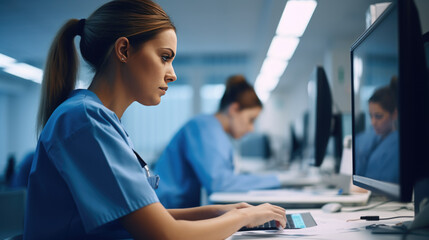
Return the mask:
<path fill-rule="evenodd" d="M 77 35 L 95 71 L 87 90 L 74 90 Z M 134 101 L 159 104 L 176 80 L 176 46 L 170 18 L 149 0 L 108 2 L 61 28 L 42 83 L 24 239 L 224 239 L 272 219 L 285 226 L 285 210 L 271 204 L 159 202 L 120 119 Z"/>

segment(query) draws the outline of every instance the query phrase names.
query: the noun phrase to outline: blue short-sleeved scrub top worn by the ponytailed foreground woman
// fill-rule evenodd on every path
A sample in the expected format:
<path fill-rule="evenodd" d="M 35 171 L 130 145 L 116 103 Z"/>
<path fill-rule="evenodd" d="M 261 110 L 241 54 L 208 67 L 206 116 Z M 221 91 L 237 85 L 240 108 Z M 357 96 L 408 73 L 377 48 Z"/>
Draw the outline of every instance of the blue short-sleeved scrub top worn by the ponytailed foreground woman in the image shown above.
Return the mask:
<path fill-rule="evenodd" d="M 129 238 L 118 219 L 158 201 L 116 114 L 75 90 L 40 135 L 24 239 Z"/>

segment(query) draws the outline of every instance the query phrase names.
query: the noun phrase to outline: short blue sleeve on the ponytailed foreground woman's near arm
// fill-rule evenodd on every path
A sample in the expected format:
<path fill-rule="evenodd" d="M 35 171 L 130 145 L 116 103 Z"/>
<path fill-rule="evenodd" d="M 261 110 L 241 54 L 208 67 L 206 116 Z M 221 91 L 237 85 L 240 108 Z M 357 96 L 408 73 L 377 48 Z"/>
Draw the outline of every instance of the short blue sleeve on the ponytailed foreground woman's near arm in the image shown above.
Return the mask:
<path fill-rule="evenodd" d="M 88 124 L 52 145 L 86 232 L 158 202 L 131 147 L 113 125 Z"/>

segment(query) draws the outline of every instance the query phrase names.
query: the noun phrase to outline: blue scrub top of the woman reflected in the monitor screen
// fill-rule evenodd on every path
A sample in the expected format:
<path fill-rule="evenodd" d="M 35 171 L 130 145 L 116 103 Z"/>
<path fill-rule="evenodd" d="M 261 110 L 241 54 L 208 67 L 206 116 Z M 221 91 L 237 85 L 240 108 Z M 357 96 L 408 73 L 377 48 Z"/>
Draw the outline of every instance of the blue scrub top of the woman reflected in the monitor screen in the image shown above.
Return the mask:
<path fill-rule="evenodd" d="M 398 131 L 384 139 L 373 128 L 356 137 L 356 173 L 360 176 L 399 183 Z"/>

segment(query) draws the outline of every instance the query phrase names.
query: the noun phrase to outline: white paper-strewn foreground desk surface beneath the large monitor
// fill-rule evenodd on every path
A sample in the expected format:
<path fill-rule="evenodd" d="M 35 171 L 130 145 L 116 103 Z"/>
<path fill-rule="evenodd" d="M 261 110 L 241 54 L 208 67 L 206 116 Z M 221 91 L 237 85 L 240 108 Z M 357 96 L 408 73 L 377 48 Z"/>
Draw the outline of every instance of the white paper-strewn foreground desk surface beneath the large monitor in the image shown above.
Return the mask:
<path fill-rule="evenodd" d="M 371 203 L 372 205 L 374 203 Z M 345 207 L 342 212 L 339 213 L 324 213 L 320 209 L 294 209 L 287 210 L 287 213 L 299 213 L 299 212 L 310 212 L 313 215 L 318 226 L 314 229 L 302 229 L 301 233 L 294 233 L 295 230 L 285 230 L 283 234 L 288 235 L 255 235 L 254 233 L 237 232 L 233 234 L 228 240 L 255 240 L 255 239 L 346 239 L 346 240 L 367 240 L 367 239 L 380 239 L 380 240 L 423 240 L 429 239 L 429 231 L 425 230 L 425 236 L 410 234 L 404 237 L 401 234 L 372 234 L 370 230 L 365 227 L 371 224 L 386 224 L 394 225 L 404 221 L 411 221 L 411 218 L 397 218 L 392 220 L 383 221 L 352 221 L 347 222 L 349 219 L 359 219 L 360 216 L 365 215 L 378 215 L 380 218 L 394 217 L 394 216 L 413 216 L 414 211 L 409 209 L 401 209 L 400 207 L 405 206 L 403 203 L 387 203 L 376 207 L 372 210 L 359 211 L 359 212 L 346 212 L 353 209 L 359 209 L 362 207 Z M 396 210 L 396 211 L 395 211 Z M 307 234 L 303 230 L 308 230 Z"/>

